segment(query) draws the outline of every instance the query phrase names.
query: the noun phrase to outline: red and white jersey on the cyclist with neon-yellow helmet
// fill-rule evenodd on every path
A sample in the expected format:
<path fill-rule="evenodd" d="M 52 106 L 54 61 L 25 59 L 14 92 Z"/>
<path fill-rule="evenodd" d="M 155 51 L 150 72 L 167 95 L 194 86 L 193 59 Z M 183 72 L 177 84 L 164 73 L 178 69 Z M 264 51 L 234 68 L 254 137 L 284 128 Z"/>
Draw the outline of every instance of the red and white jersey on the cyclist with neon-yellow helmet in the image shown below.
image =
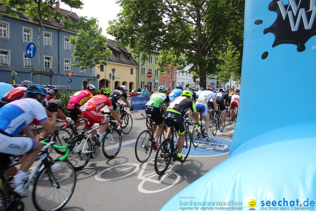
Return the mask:
<path fill-rule="evenodd" d="M 81 111 L 98 111 L 104 106 L 113 109 L 112 102 L 105 95 L 96 95 L 91 97 L 83 106 L 80 107 Z"/>

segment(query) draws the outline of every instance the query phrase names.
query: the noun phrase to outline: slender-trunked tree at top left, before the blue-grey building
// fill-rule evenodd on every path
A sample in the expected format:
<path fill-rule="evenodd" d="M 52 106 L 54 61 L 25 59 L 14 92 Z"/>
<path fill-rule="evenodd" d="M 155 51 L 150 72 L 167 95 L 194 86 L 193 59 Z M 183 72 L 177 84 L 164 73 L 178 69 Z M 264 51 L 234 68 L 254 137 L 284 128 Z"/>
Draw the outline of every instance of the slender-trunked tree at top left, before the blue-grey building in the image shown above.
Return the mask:
<path fill-rule="evenodd" d="M 58 9 L 52 8 L 58 2 L 64 2 L 71 8 L 82 9 L 81 0 L 3 0 L 3 4 L 7 6 L 6 12 L 10 16 L 17 16 L 17 12 L 23 13 L 30 21 L 38 23 L 37 28 L 37 58 L 38 58 L 38 71 L 41 70 L 41 39 L 40 31 L 42 28 L 43 20 L 48 20 L 51 17 L 62 19 L 64 16 Z M 10 9 L 14 7 L 16 11 Z M 47 23 L 47 21 L 46 21 Z M 41 74 L 39 74 L 39 84 L 41 84 Z"/>

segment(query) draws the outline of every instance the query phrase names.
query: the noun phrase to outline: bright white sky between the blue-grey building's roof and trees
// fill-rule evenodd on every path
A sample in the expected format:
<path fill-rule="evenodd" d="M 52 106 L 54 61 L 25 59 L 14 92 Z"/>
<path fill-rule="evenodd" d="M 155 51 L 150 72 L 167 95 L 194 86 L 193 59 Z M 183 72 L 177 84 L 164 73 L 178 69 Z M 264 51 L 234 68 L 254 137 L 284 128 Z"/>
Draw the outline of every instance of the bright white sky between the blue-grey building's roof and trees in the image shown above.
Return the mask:
<path fill-rule="evenodd" d="M 115 3 L 117 0 L 82 0 L 83 9 L 72 8 L 72 12 L 75 12 L 79 17 L 87 16 L 95 17 L 99 21 L 99 26 L 103 30 L 103 34 L 106 38 L 114 40 L 114 37 L 106 33 L 108 28 L 108 21 L 117 17 L 117 14 L 122 9 L 119 4 Z M 63 2 L 60 3 L 60 8 L 70 11 L 70 7 Z"/>

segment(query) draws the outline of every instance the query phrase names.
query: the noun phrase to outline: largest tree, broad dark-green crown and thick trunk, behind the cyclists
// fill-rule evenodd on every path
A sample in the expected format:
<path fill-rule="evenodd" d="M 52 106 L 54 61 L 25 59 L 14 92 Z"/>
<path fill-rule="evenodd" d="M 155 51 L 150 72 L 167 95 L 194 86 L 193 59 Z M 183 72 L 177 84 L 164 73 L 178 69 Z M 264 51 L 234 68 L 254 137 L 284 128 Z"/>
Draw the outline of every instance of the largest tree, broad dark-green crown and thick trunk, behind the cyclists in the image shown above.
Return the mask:
<path fill-rule="evenodd" d="M 119 0 L 123 10 L 110 21 L 108 33 L 122 46 L 130 46 L 143 61 L 153 46 L 184 53 L 187 64 L 198 70 L 201 86 L 206 85 L 209 63 L 217 61 L 214 48 L 228 28 L 243 25 L 244 0 Z M 237 33 L 235 33 L 237 34 Z M 217 54 L 217 52 L 215 52 Z M 198 67 L 198 69 L 197 69 Z M 215 72 L 209 68 L 208 73 Z"/>

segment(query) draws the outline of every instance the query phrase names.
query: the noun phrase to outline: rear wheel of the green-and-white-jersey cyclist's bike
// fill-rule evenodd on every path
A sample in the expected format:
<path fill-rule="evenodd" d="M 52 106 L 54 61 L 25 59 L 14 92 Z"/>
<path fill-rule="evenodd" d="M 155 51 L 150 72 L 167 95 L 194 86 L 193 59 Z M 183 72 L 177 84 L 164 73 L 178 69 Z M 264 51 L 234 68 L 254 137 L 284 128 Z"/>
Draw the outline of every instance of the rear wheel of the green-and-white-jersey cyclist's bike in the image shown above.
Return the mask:
<path fill-rule="evenodd" d="M 144 130 L 139 134 L 136 143 L 135 143 L 135 155 L 139 162 L 144 163 L 150 157 L 152 148 L 152 137 L 148 130 Z"/>

